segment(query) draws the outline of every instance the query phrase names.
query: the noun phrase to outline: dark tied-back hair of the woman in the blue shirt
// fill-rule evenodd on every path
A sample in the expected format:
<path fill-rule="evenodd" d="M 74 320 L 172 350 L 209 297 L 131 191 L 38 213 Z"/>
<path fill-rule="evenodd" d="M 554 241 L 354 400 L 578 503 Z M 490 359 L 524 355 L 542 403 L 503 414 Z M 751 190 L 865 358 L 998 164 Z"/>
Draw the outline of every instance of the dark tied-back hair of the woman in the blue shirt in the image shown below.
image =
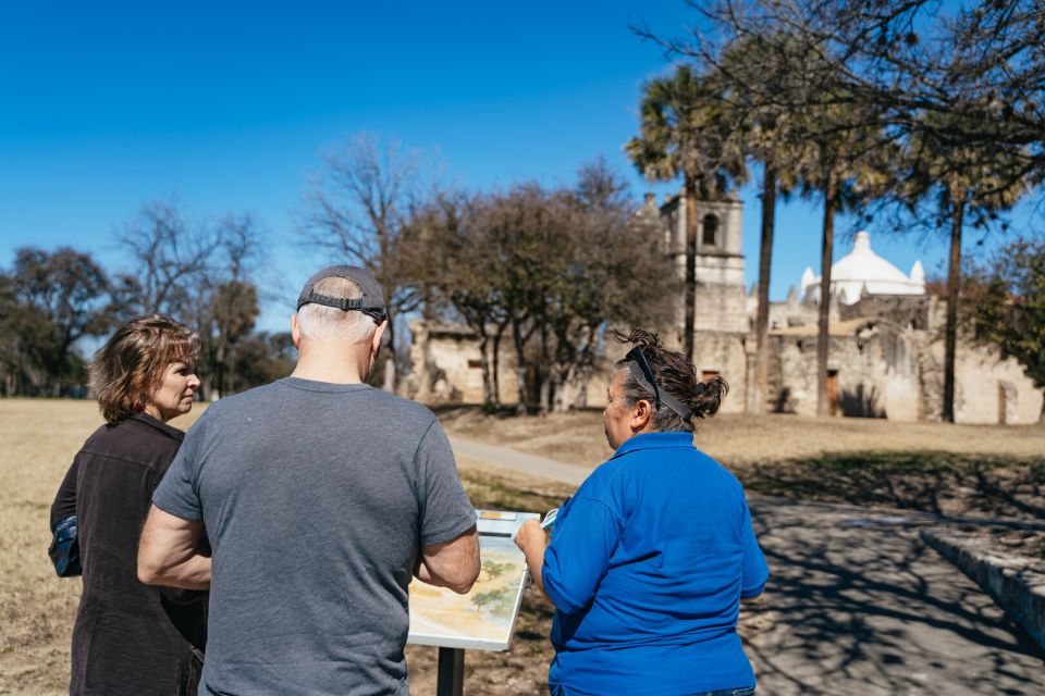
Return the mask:
<path fill-rule="evenodd" d="M 697 380 L 697 369 L 693 368 L 689 358 L 661 346 L 656 334 L 636 328 L 630 334 L 614 330 L 613 336 L 623 344 L 639 347 L 653 372 L 656 387 L 661 391 L 671 394 L 683 406 L 692 409 L 692 418 L 713 415 L 722 405 L 722 400 L 726 398 L 729 385 L 726 384 L 725 380 L 712 377 L 708 382 L 701 383 Z M 614 373 L 624 370 L 625 407 L 631 408 L 640 400 L 646 399 L 654 406 L 653 417 L 650 419 L 653 431 L 662 433 L 673 431 L 692 432 L 692 419 L 689 421 L 683 420 L 681 415 L 665 406 L 663 401 L 657 405 L 653 395 L 636 381 L 627 365 L 627 359 L 623 359 L 618 360 L 614 366 Z"/>

